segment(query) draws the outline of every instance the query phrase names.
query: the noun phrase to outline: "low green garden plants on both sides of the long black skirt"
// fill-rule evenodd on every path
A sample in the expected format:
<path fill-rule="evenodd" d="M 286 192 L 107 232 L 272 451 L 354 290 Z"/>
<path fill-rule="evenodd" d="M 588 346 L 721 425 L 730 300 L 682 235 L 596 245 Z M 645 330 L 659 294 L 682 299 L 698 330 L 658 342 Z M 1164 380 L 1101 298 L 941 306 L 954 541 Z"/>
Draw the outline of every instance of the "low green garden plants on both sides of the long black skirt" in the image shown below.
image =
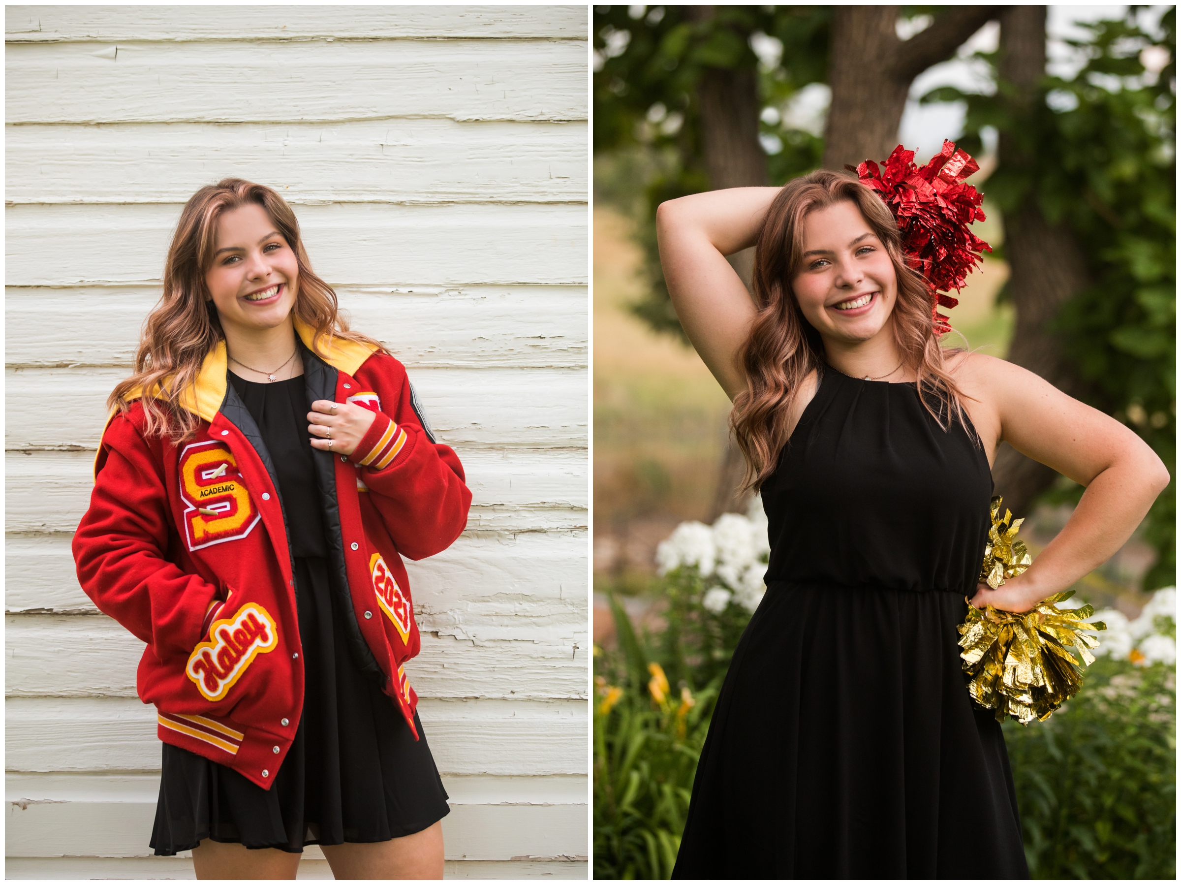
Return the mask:
<path fill-rule="evenodd" d="M 655 635 L 638 635 L 612 597 L 616 646 L 595 649 L 596 879 L 668 878 L 680 846 L 709 718 L 750 617 L 736 605 L 706 611 L 693 571 L 666 579 Z M 671 686 L 659 699 L 651 664 Z M 1050 720 L 1004 731 L 1033 878 L 1175 878 L 1173 666 L 1101 657 Z"/>

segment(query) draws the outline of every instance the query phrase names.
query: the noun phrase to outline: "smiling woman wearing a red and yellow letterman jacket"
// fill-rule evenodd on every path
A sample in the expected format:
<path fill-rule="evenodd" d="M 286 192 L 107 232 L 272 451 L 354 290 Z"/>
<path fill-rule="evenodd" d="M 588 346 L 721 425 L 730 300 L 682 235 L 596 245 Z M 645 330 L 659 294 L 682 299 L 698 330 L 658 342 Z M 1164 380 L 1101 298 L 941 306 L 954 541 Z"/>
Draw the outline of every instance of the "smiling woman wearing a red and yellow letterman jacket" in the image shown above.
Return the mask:
<path fill-rule="evenodd" d="M 471 493 L 402 364 L 348 331 L 274 190 L 185 204 L 135 373 L 110 398 L 83 590 L 146 643 L 163 741 L 156 854 L 198 878 L 442 878 L 446 793 L 404 664 L 402 555 Z"/>

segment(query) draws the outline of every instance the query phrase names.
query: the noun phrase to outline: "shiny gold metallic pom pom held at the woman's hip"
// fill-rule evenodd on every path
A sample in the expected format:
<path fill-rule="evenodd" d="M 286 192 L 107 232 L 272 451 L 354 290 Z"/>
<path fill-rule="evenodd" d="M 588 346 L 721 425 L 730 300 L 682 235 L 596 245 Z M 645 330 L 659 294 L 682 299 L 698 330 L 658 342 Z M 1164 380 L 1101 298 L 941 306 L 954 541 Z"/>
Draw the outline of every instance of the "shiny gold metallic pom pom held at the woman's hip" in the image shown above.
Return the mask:
<path fill-rule="evenodd" d="M 999 519 L 1000 499 L 991 506 L 992 528 L 984 552 L 980 580 L 996 590 L 1006 578 L 1024 572 L 1032 564 L 1022 541 L 1016 540 L 1023 520 L 1013 520 L 1006 509 Z M 1083 664 L 1095 662 L 1091 649 L 1098 639 L 1090 632 L 1107 630 L 1102 622 L 1088 624 L 1095 610 L 1059 609 L 1056 603 L 1069 599 L 1068 590 L 1043 599 L 1027 612 L 1005 612 L 991 605 L 980 611 L 968 605 L 967 618 L 959 626 L 960 657 L 968 675 L 967 690 L 985 709 L 997 711 L 997 721 L 1012 716 L 1023 725 L 1037 718 L 1045 721 L 1074 697 L 1082 685 L 1082 668 L 1070 649 L 1076 649 Z"/>

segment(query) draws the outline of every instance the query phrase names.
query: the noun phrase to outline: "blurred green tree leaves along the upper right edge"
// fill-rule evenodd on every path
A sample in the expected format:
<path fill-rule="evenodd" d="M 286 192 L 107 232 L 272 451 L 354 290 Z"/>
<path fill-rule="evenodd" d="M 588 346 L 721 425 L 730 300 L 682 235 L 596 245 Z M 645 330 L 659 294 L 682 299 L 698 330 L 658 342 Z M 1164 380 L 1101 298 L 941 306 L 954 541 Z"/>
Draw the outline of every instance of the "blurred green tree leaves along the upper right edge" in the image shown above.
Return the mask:
<path fill-rule="evenodd" d="M 1005 212 L 1036 200 L 1051 223 L 1070 228 L 1094 285 L 1056 320 L 1068 357 L 1095 391 L 1090 404 L 1131 427 L 1175 473 L 1176 8 L 1157 34 L 1137 26 L 1135 7 L 1085 27 L 1090 38 L 1074 41 L 1085 66 L 1071 79 L 1046 77 L 1046 98 L 1032 112 L 1014 112 L 1004 83 L 992 96 L 944 87 L 922 100 L 966 103 L 959 143 L 968 152 L 991 126 L 1032 157 L 1001 163 L 988 199 Z M 1153 53 L 1168 59 L 1155 79 L 1141 63 Z M 1144 590 L 1176 583 L 1174 487 L 1157 496 L 1146 525 L 1157 561 Z"/>

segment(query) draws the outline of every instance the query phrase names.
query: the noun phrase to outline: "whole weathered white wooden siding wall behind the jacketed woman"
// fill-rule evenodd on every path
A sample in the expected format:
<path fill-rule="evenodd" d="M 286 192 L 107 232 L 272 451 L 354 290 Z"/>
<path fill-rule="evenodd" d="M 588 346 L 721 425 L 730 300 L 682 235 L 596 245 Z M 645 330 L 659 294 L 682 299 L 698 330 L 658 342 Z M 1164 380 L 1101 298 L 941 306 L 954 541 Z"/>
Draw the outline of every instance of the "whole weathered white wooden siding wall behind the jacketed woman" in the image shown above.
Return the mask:
<path fill-rule="evenodd" d="M 181 206 L 233 175 L 293 204 L 468 471 L 468 531 L 407 562 L 446 876 L 586 878 L 587 8 L 5 14 L 8 877 L 193 878 L 149 855 L 143 646 L 70 541 Z"/>

